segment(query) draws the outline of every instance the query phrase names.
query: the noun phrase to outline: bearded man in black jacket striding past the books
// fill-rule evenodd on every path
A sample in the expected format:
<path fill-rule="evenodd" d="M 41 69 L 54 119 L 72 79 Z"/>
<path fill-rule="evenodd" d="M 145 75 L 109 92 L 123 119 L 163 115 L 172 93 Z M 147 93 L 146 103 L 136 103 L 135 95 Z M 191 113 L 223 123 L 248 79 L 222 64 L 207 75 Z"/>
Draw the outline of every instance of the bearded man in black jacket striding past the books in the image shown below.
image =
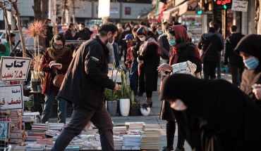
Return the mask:
<path fill-rule="evenodd" d="M 118 28 L 111 22 L 99 27 L 97 36 L 83 43 L 68 67 L 58 96 L 73 103 L 70 123 L 56 139 L 54 150 L 64 150 L 91 121 L 99 129 L 102 150 L 114 150 L 113 125 L 104 105 L 105 88 L 117 91 L 119 86 L 108 74 L 106 55 Z"/>

